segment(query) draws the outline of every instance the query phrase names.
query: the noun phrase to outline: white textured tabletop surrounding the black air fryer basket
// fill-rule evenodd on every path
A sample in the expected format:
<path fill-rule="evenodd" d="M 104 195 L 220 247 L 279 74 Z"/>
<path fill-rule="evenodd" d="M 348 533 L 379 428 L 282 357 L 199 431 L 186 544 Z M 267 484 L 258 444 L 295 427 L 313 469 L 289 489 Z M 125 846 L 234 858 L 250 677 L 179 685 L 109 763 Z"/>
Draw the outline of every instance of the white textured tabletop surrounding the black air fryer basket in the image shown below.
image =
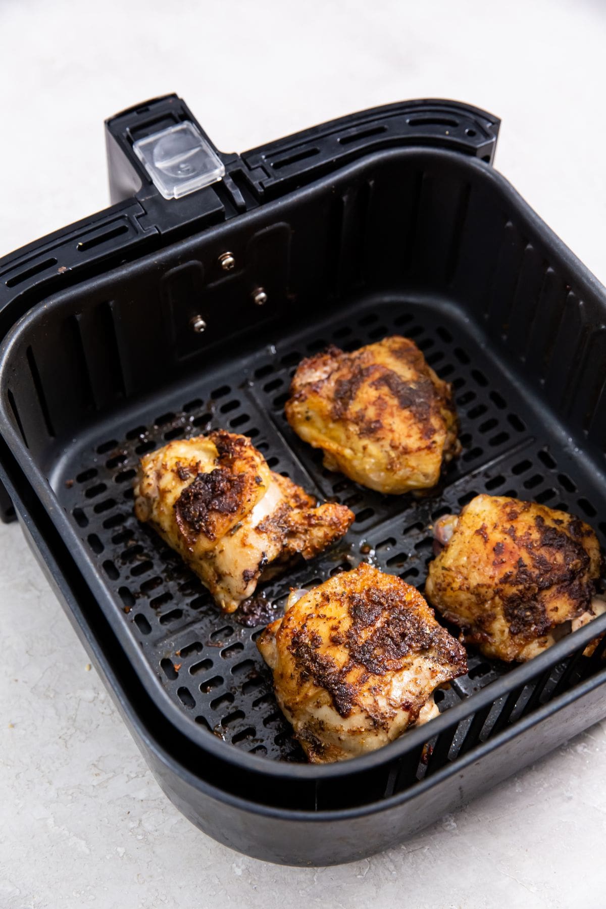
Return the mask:
<path fill-rule="evenodd" d="M 0 255 L 107 205 L 104 117 L 147 97 L 241 150 L 450 96 L 502 116 L 497 165 L 606 281 L 601 0 L 0 0 L 0 38 Z M 606 725 L 389 853 L 280 868 L 168 803 L 15 525 L 0 604 L 0 909 L 603 905 Z"/>

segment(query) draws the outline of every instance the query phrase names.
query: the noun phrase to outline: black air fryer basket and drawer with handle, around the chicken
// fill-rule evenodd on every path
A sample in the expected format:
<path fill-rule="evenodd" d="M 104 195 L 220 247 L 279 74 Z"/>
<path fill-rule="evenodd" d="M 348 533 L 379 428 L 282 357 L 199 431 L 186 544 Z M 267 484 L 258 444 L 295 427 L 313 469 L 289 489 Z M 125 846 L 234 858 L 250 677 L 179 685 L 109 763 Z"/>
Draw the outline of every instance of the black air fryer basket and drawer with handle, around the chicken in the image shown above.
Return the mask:
<path fill-rule="evenodd" d="M 244 853 L 372 854 L 606 715 L 606 638 L 583 655 L 603 615 L 528 664 L 471 654 L 430 724 L 305 764 L 254 643 L 267 617 L 220 614 L 133 514 L 144 452 L 223 426 L 356 515 L 270 584 L 273 615 L 291 585 L 361 560 L 422 589 L 430 525 L 482 492 L 570 510 L 604 544 L 606 293 L 492 170 L 498 127 L 413 101 L 223 155 L 168 95 L 107 122 L 110 208 L 0 261 L 5 520 L 164 791 Z M 416 497 L 329 473 L 283 417 L 304 355 L 393 333 L 462 421 L 461 457 Z"/>

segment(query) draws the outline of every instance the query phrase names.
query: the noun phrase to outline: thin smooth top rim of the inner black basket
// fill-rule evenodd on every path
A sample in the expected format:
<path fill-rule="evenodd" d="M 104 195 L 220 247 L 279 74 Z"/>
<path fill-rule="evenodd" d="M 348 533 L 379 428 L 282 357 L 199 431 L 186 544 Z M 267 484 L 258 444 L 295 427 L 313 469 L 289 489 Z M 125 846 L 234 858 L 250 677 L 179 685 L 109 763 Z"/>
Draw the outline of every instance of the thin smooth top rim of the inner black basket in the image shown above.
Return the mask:
<path fill-rule="evenodd" d="M 604 288 L 597 281 L 597 279 L 593 275 L 591 275 L 591 273 L 587 269 L 585 269 L 585 267 L 583 265 L 581 265 L 581 263 L 571 253 L 571 251 L 568 250 L 567 247 L 565 247 L 565 245 L 561 244 L 561 241 L 557 238 L 557 236 L 551 232 L 549 227 L 544 225 L 544 223 L 541 221 L 541 218 L 539 218 L 539 216 L 536 215 L 531 210 L 530 206 L 528 206 L 522 200 L 520 195 L 518 195 L 515 192 L 515 190 L 512 188 L 512 186 L 509 185 L 509 183 L 502 177 L 502 175 L 498 175 L 498 174 L 494 173 L 490 167 L 482 164 L 479 161 L 476 161 L 472 158 L 463 158 L 462 155 L 458 155 L 455 152 L 446 151 L 446 150 L 410 148 L 410 149 L 399 149 L 399 150 L 392 150 L 392 151 L 382 151 L 382 152 L 374 153 L 373 155 L 368 155 L 352 165 L 347 165 L 346 168 L 343 168 L 343 173 L 347 173 L 349 175 L 354 175 L 354 174 L 358 173 L 364 167 L 368 166 L 369 161 L 373 161 L 373 159 L 379 159 L 379 158 L 384 159 L 386 156 L 396 158 L 396 157 L 400 157 L 402 155 L 404 155 L 406 157 L 410 157 L 412 155 L 420 155 L 420 154 L 423 156 L 426 156 L 430 160 L 432 158 L 443 159 L 443 157 L 446 155 L 449 158 L 452 158 L 453 161 L 456 161 L 456 164 L 458 166 L 472 167 L 473 169 L 481 172 L 482 178 L 491 180 L 498 187 L 498 189 L 502 193 L 502 195 L 509 195 L 510 200 L 516 206 L 516 213 L 517 213 L 517 215 L 519 215 L 522 222 L 525 218 L 529 224 L 534 225 L 535 227 L 536 226 L 540 227 L 542 238 L 543 238 L 543 241 L 545 242 L 545 244 L 554 245 L 557 248 L 558 255 L 560 255 L 560 258 L 564 261 L 564 264 L 566 265 L 566 267 L 569 268 L 571 270 L 571 272 L 574 272 L 574 275 L 575 275 L 574 280 L 575 280 L 576 285 L 582 286 L 582 283 L 584 282 L 587 285 L 588 289 L 591 288 L 591 291 L 593 293 L 598 292 L 598 293 L 600 293 L 600 295 L 604 294 Z M 319 186 L 325 186 L 327 184 L 330 184 L 332 181 L 333 181 L 333 176 L 331 176 L 331 175 L 322 177 L 319 180 L 315 181 L 312 185 L 309 185 L 307 187 L 304 187 L 302 190 L 297 191 L 297 195 L 299 197 L 301 197 L 301 195 L 304 195 L 304 194 L 311 194 L 314 191 L 316 191 Z M 269 203 L 268 205 L 264 206 L 264 208 L 263 208 L 264 215 L 265 216 L 267 215 L 268 210 L 270 209 L 270 206 L 272 208 L 274 208 L 276 211 L 279 211 L 280 207 L 282 205 L 285 205 L 288 202 L 289 198 L 290 198 L 290 196 L 286 196 L 281 200 L 278 200 L 274 203 Z M 253 210 L 252 212 L 250 212 L 246 215 L 242 215 L 242 218 L 253 219 L 256 215 L 257 215 L 256 210 Z M 229 224 L 221 225 L 220 227 L 215 228 L 215 230 L 216 230 L 217 234 L 220 231 L 229 232 L 230 225 Z M 188 242 L 187 240 L 183 241 L 184 245 L 186 245 L 187 242 Z M 172 248 L 172 251 L 173 250 L 174 250 L 174 247 Z M 157 254 L 155 255 L 155 257 L 157 258 Z M 138 261 L 134 262 L 134 264 L 132 264 L 132 265 L 125 265 L 124 269 L 136 270 L 137 267 L 144 265 L 147 258 L 148 257 L 145 256 L 144 259 L 138 260 Z M 122 269 L 121 269 L 121 271 L 122 271 Z M 107 282 L 111 282 L 112 275 L 113 275 L 112 272 L 107 273 L 106 275 L 104 275 L 104 280 L 106 280 Z M 55 300 L 51 301 L 50 306 L 61 306 L 62 303 L 64 302 L 65 298 L 70 299 L 72 295 L 78 295 L 81 286 L 82 285 L 76 286 L 75 288 L 65 291 L 62 294 L 55 295 Z M 5 379 L 4 373 L 5 373 L 6 361 L 10 357 L 12 348 L 15 345 L 18 345 L 19 339 L 20 339 L 22 333 L 25 332 L 27 327 L 29 327 L 33 323 L 36 323 L 43 319 L 44 319 L 44 311 L 42 310 L 42 308 L 38 307 L 35 310 L 33 309 L 30 312 L 28 312 L 27 314 L 25 314 L 22 317 L 22 319 L 19 320 L 19 322 L 15 324 L 15 326 L 11 330 L 11 332 L 5 337 L 2 347 L 0 348 L 0 361 L 2 363 L 2 367 L 0 368 L 0 379 Z M 73 551 L 75 553 L 75 564 L 78 565 L 79 570 L 84 574 L 84 577 L 86 578 L 87 583 L 90 585 L 91 589 L 95 591 L 95 594 L 97 595 L 97 597 L 100 597 L 100 599 L 103 601 L 104 599 L 106 599 L 106 591 L 104 590 L 104 586 L 103 586 L 103 584 L 100 584 L 98 582 L 97 578 L 94 576 L 94 572 L 92 572 L 92 570 L 91 570 L 91 565 L 90 565 L 88 556 L 85 554 L 84 547 L 82 546 L 79 538 L 77 537 L 77 534 L 75 534 L 74 527 L 72 526 L 72 524 L 70 524 L 67 521 L 65 514 L 63 514 L 63 511 L 56 507 L 57 503 L 56 503 L 56 499 L 55 499 L 55 494 L 52 492 L 52 490 L 46 483 L 44 477 L 41 476 L 40 471 L 35 466 L 33 457 L 29 454 L 29 452 L 25 448 L 25 445 L 23 444 L 22 440 L 20 439 L 19 435 L 15 432 L 15 429 L 12 425 L 12 421 L 5 409 L 4 397 L 2 399 L 1 407 L 0 407 L 0 428 L 2 429 L 2 433 L 5 437 L 5 441 L 9 445 L 16 460 L 27 468 L 27 470 L 24 471 L 27 482 L 29 482 L 32 485 L 32 488 L 34 489 L 35 494 L 37 495 L 40 502 L 45 507 L 45 510 L 48 512 L 48 514 L 51 515 L 52 520 L 53 520 L 58 532 L 66 540 L 68 540 L 70 546 L 73 547 Z M 110 609 L 113 608 L 113 604 L 111 604 L 111 603 L 107 603 L 106 605 Z M 536 674 L 538 671 L 537 667 L 539 667 L 539 669 L 540 669 L 541 665 L 542 665 L 542 664 L 538 663 L 537 660 L 541 660 L 543 657 L 545 657 L 545 659 L 544 659 L 545 665 L 550 664 L 551 662 L 554 662 L 554 660 L 557 659 L 558 655 L 563 656 L 563 655 L 571 652 L 572 650 L 576 649 L 579 646 L 579 644 L 581 643 L 581 636 L 582 636 L 583 640 L 586 638 L 587 642 L 589 642 L 589 640 L 591 640 L 591 638 L 601 630 L 602 624 L 604 625 L 604 627 L 606 627 L 606 618 L 596 620 L 596 622 L 593 624 L 593 627 L 589 630 L 581 629 L 581 631 L 575 633 L 574 635 L 571 635 L 569 638 L 562 639 L 561 642 L 559 642 L 559 644 L 556 644 L 554 648 L 551 648 L 551 654 L 541 654 L 541 657 L 538 657 L 537 659 L 532 661 L 532 664 L 527 664 L 526 666 L 522 665 L 522 666 L 517 667 L 516 669 L 512 670 L 512 672 L 517 673 L 518 674 L 517 677 L 521 681 L 523 680 L 525 671 L 526 671 L 527 675 Z M 572 638 L 573 638 L 573 643 L 571 643 Z M 171 721 L 172 722 L 176 721 L 176 724 L 178 724 L 178 726 L 181 728 L 181 724 L 184 722 L 184 714 L 180 713 L 177 710 L 177 708 L 175 707 L 173 702 L 170 701 L 170 699 L 168 698 L 168 695 L 164 692 L 164 689 L 162 688 L 162 686 L 157 683 L 157 679 L 151 674 L 149 665 L 143 664 L 143 661 L 140 660 L 140 654 L 138 654 L 138 652 L 136 651 L 136 648 L 131 646 L 130 639 L 126 638 L 126 641 L 128 642 L 126 652 L 129 653 L 129 649 L 130 649 L 132 651 L 132 653 L 130 653 L 129 656 L 132 656 L 134 658 L 135 662 L 138 661 L 139 665 L 143 665 L 143 667 L 144 667 L 143 675 L 147 676 L 148 679 L 153 679 L 154 692 L 155 692 L 156 696 L 157 696 L 158 692 L 162 692 L 162 700 L 164 703 L 164 707 L 166 708 L 168 714 L 170 714 Z M 124 646 L 124 641 L 122 643 Z M 531 670 L 528 668 L 530 665 L 532 665 Z M 490 689 L 486 689 L 486 691 L 489 691 L 489 690 L 492 695 L 490 700 L 493 700 L 494 697 L 497 696 L 496 694 L 493 694 L 495 689 L 491 686 Z M 465 702 L 464 704 L 459 705 L 459 707 L 456 707 L 453 709 L 459 710 L 461 708 L 460 712 L 464 715 L 473 713 L 477 709 L 478 704 L 480 703 L 480 699 L 479 699 L 480 694 L 482 694 L 482 693 L 472 695 L 472 697 L 470 697 L 467 702 Z M 470 704 L 471 704 L 471 706 L 470 706 Z M 463 709 L 463 708 L 465 708 L 465 709 Z M 443 715 L 442 715 L 442 718 L 439 717 L 436 720 L 432 721 L 434 723 L 434 725 L 432 726 L 432 729 L 435 730 L 436 733 L 439 732 L 440 728 L 442 728 L 442 726 L 440 726 L 440 727 L 438 726 L 438 724 L 441 724 L 441 722 L 442 722 L 443 726 L 445 726 L 447 724 L 451 724 L 452 712 L 449 711 L 449 714 L 451 714 L 451 717 L 449 717 L 447 720 L 444 720 Z M 189 738 L 191 738 L 195 742 L 195 744 L 199 745 L 203 750 L 210 750 L 217 756 L 220 756 L 222 759 L 226 759 L 231 764 L 236 764 L 236 765 L 240 765 L 240 766 L 244 765 L 244 766 L 249 767 L 252 770 L 263 770 L 263 772 L 268 771 L 268 762 L 263 757 L 259 757 L 255 754 L 248 754 L 246 752 L 239 751 L 238 749 L 235 749 L 232 744 L 228 744 L 223 741 L 217 741 L 217 739 L 214 738 L 213 736 L 208 736 L 207 734 L 205 734 L 204 730 L 196 729 L 196 727 L 193 723 L 184 724 L 184 732 L 185 732 L 185 734 L 188 735 Z M 385 764 L 389 761 L 392 761 L 393 759 L 397 758 L 400 754 L 402 754 L 404 751 L 408 750 L 412 746 L 411 745 L 412 737 L 415 735 L 417 738 L 422 738 L 423 740 L 427 738 L 427 733 L 426 732 L 423 733 L 421 729 L 412 730 L 406 736 L 403 736 L 401 739 L 396 740 L 392 744 L 386 745 L 382 749 L 379 749 L 371 754 L 363 755 L 362 757 L 354 758 L 352 761 L 347 762 L 346 772 L 350 773 L 350 772 L 354 772 L 357 770 L 370 769 L 371 767 L 376 766 L 378 764 Z M 341 775 L 341 774 L 343 774 L 344 771 L 343 771 L 343 764 L 327 764 L 327 765 L 318 766 L 318 765 L 304 765 L 304 764 L 300 765 L 300 764 L 273 763 L 273 764 L 271 764 L 271 772 L 273 774 L 279 774 L 281 776 L 289 777 L 292 779 L 302 779 L 303 778 L 303 779 L 316 779 L 317 780 L 317 779 L 330 778 L 330 777 L 333 777 L 336 775 Z"/>

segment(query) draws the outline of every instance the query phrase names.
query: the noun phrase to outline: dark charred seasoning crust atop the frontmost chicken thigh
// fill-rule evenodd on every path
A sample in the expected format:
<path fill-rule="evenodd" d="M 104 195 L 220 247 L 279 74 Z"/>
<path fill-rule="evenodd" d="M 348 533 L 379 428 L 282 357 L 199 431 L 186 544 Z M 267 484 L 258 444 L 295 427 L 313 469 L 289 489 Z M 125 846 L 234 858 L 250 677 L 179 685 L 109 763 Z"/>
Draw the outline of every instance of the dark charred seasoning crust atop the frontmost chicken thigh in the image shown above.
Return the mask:
<path fill-rule="evenodd" d="M 333 595 L 323 593 L 326 604 Z M 434 620 L 428 622 L 417 611 L 419 604 L 414 601 L 422 597 L 416 590 L 411 598 L 406 589 L 386 591 L 370 584 L 362 593 L 336 595 L 344 597 L 352 623 L 344 634 L 337 630 L 331 643 L 343 644 L 348 652 L 347 662 L 339 668 L 331 656 L 321 653 L 322 637 L 310 633 L 305 623 L 293 632 L 288 649 L 303 680 L 311 679 L 325 689 L 341 716 L 351 713 L 358 694 L 357 686 L 347 681 L 355 668 L 363 668 L 366 681 L 368 674 L 397 671 L 406 656 L 424 652 L 428 659 L 451 666 L 452 678 L 467 672 L 467 657 L 461 644 L 442 625 Z M 422 606 L 425 607 L 424 600 Z M 373 625 L 376 627 L 364 637 L 363 632 Z"/>

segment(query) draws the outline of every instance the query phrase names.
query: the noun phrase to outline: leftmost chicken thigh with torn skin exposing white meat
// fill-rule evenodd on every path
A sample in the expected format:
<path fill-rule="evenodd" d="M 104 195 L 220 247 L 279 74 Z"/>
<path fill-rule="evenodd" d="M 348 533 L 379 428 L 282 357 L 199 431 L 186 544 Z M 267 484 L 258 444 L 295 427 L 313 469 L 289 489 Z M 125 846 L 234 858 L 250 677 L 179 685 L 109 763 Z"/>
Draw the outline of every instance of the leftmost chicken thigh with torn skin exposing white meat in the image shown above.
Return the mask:
<path fill-rule="evenodd" d="M 231 613 L 296 554 L 311 559 L 347 533 L 353 512 L 315 506 L 274 474 L 250 439 L 222 430 L 141 459 L 134 513 L 181 554 Z"/>

